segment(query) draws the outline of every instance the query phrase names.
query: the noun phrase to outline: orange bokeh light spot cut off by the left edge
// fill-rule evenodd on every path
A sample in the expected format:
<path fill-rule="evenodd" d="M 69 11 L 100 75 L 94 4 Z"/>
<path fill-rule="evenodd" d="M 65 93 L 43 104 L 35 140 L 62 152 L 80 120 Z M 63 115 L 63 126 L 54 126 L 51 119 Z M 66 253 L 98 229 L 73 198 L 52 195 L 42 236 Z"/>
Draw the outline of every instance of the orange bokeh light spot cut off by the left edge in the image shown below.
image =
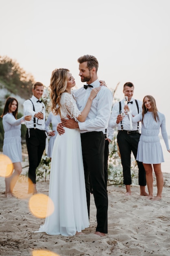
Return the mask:
<path fill-rule="evenodd" d="M 0 176 L 9 177 L 13 173 L 13 163 L 7 155 L 0 154 Z"/>

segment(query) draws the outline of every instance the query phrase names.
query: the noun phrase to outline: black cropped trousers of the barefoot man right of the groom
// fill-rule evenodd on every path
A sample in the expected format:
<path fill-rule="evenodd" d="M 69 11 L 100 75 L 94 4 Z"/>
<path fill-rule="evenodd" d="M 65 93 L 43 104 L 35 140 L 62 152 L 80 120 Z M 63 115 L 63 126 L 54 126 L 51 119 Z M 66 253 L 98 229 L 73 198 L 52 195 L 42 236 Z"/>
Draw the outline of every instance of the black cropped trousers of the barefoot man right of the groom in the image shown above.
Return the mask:
<path fill-rule="evenodd" d="M 127 134 L 122 131 L 118 132 L 117 141 L 121 155 L 121 162 L 123 167 L 124 184 L 131 185 L 131 152 L 136 159 L 137 146 L 139 143 L 140 134 L 132 133 Z M 137 162 L 139 168 L 138 182 L 140 186 L 146 186 L 146 173 L 142 162 Z"/>

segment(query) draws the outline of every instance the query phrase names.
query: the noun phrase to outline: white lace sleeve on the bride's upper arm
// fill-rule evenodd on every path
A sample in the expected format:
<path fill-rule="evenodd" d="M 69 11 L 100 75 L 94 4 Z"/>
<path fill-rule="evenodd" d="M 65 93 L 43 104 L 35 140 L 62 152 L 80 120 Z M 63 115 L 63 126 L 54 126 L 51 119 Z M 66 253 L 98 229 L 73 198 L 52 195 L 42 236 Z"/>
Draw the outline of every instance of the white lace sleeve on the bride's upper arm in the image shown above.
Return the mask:
<path fill-rule="evenodd" d="M 81 111 L 78 110 L 77 104 L 75 99 L 73 98 L 72 94 L 65 93 L 64 97 L 64 106 L 70 113 L 70 117 L 77 120 L 77 117 L 81 115 Z"/>

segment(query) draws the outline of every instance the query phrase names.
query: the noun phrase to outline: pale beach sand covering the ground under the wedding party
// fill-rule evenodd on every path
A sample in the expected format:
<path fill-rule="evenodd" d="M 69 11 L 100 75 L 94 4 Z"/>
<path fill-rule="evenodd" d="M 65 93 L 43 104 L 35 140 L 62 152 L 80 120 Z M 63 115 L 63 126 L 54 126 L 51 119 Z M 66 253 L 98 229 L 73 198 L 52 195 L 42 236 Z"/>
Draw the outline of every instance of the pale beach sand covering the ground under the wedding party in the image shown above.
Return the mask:
<path fill-rule="evenodd" d="M 23 162 L 23 170 L 28 169 Z M 23 172 L 24 172 L 23 171 Z M 94 234 L 96 207 L 91 195 L 90 227 L 79 236 L 48 236 L 33 233 L 44 223 L 29 208 L 27 178 L 21 177 L 14 193 L 4 195 L 4 178 L 0 177 L 0 256 L 146 256 L 170 255 L 170 173 L 163 173 L 163 197 L 147 200 L 139 195 L 139 186 L 132 186 L 132 195 L 125 196 L 122 186 L 108 186 L 108 234 Z M 154 180 L 154 195 L 157 187 Z M 49 181 L 37 182 L 39 193 L 48 195 Z"/>

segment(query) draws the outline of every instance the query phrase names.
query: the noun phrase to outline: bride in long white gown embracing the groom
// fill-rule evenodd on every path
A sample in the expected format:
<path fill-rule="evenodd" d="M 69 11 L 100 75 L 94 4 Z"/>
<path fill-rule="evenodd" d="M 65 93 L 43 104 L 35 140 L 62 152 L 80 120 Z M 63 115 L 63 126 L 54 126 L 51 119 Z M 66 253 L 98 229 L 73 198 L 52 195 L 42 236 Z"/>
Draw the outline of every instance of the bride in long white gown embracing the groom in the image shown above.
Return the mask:
<path fill-rule="evenodd" d="M 85 107 L 78 110 L 71 89 L 75 80 L 68 69 L 60 68 L 52 72 L 50 79 L 51 110 L 54 115 L 84 122 L 100 87 L 91 90 Z M 54 204 L 54 212 L 46 217 L 39 231 L 49 235 L 73 236 L 82 234 L 89 227 L 85 178 L 79 129 L 65 128 L 63 136 L 57 135 L 51 158 L 49 197 Z M 48 212 L 50 212 L 48 204 Z"/>

